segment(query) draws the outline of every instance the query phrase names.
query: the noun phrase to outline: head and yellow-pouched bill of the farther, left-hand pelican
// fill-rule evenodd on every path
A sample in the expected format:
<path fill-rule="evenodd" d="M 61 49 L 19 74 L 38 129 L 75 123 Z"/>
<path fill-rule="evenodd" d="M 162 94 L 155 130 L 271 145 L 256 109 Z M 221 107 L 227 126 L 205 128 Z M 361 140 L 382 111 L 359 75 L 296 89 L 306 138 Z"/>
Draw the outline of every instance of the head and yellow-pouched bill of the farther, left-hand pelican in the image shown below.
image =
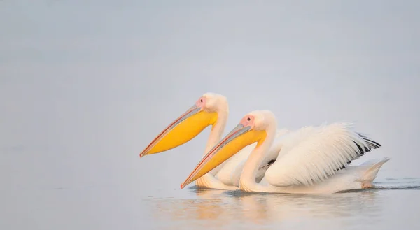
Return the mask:
<path fill-rule="evenodd" d="M 200 134 L 206 127 L 216 124 L 221 113 L 228 115 L 225 96 L 207 93 L 200 96 L 194 106 L 186 110 L 140 153 L 140 157 L 176 148 Z"/>

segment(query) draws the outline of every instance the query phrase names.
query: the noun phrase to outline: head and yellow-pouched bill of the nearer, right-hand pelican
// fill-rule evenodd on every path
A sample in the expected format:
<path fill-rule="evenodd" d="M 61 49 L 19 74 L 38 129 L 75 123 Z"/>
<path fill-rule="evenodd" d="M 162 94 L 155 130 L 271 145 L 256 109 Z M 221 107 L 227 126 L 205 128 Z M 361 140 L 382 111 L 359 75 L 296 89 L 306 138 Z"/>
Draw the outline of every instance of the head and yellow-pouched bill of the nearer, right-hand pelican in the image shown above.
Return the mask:
<path fill-rule="evenodd" d="M 276 127 L 276 118 L 271 111 L 255 110 L 248 113 L 235 129 L 232 129 L 202 158 L 186 181 L 181 184 L 181 189 L 216 168 L 247 145 L 257 142 L 255 149 L 259 148 L 268 135 L 275 135 Z"/>

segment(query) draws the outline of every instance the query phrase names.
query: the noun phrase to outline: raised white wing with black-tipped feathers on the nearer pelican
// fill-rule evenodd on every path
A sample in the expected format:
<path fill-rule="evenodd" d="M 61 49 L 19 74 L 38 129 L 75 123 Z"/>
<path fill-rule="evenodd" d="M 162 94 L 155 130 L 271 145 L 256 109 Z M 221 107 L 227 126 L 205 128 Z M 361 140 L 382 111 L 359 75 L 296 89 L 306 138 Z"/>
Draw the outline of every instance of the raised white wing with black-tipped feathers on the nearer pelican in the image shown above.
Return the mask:
<path fill-rule="evenodd" d="M 335 123 L 290 134 L 265 172 L 265 180 L 273 186 L 314 185 L 381 146 L 351 127 L 350 123 Z"/>

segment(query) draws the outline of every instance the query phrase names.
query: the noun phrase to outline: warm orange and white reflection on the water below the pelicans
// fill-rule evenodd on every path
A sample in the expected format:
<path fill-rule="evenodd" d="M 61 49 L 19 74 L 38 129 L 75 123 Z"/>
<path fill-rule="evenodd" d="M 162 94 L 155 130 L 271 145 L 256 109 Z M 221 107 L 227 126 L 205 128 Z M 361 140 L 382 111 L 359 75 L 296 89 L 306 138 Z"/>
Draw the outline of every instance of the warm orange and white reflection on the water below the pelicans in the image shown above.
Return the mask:
<path fill-rule="evenodd" d="M 229 229 L 289 226 L 302 220 L 328 227 L 348 227 L 360 221 L 374 223 L 381 215 L 381 194 L 375 190 L 342 194 L 253 194 L 216 189 L 193 189 L 195 199 L 162 199 L 152 204 L 152 212 L 167 229 L 206 227 Z M 358 223 L 352 221 L 358 216 Z M 361 220 L 360 220 L 361 218 Z"/>

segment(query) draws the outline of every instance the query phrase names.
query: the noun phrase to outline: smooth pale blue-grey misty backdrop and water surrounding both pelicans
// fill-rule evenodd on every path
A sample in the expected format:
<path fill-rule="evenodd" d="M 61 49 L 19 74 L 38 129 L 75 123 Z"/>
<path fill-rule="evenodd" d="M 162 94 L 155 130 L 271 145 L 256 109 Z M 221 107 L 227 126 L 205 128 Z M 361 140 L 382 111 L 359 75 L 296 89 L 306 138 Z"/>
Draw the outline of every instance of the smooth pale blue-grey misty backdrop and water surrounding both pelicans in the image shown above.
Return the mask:
<path fill-rule="evenodd" d="M 419 229 L 419 1 L 0 1 L 0 229 Z M 139 152 L 205 92 L 225 133 L 356 122 L 379 189 L 181 190 L 209 129 Z"/>

